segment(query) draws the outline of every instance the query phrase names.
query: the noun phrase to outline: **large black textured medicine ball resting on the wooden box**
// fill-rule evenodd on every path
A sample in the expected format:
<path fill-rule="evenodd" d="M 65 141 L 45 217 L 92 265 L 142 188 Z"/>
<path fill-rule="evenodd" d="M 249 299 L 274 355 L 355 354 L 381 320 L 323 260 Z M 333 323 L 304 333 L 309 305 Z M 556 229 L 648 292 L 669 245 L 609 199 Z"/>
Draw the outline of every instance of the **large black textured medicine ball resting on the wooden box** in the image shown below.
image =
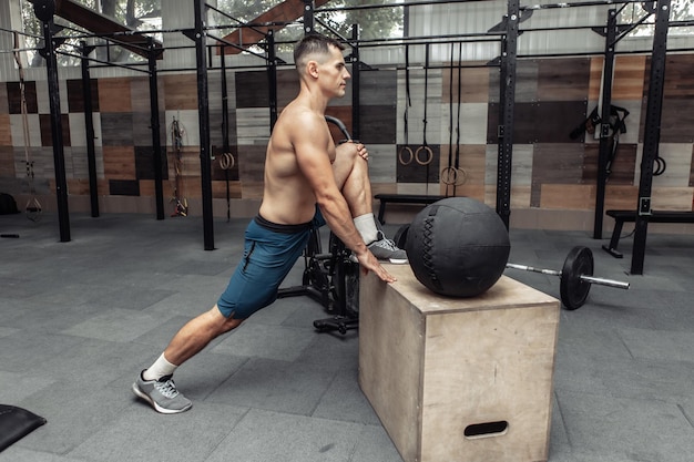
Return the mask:
<path fill-rule="evenodd" d="M 449 197 L 425 207 L 405 244 L 417 280 L 449 297 L 474 297 L 499 280 L 511 251 L 497 213 L 469 197 Z"/>

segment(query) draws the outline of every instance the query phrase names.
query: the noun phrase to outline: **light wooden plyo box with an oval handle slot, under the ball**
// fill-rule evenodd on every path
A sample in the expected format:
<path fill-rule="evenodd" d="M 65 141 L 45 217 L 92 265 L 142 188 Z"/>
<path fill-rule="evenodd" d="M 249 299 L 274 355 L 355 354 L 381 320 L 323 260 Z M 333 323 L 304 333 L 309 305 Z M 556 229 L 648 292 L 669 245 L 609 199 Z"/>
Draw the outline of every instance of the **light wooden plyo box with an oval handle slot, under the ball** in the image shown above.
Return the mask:
<path fill-rule="evenodd" d="M 387 269 L 359 285 L 359 384 L 402 459 L 547 461 L 559 300 L 506 276 L 447 298 Z"/>

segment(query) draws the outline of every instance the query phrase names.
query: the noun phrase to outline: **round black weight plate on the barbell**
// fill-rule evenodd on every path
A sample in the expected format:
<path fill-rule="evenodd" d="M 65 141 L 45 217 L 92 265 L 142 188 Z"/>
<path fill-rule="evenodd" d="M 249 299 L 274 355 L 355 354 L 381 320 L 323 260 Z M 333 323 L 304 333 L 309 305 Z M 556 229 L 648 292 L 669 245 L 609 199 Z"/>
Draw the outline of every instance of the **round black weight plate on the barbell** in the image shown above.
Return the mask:
<path fill-rule="evenodd" d="M 564 260 L 559 284 L 561 302 L 567 309 L 581 308 L 585 304 L 591 284 L 581 276 L 593 276 L 593 253 L 588 247 L 576 246 Z"/>

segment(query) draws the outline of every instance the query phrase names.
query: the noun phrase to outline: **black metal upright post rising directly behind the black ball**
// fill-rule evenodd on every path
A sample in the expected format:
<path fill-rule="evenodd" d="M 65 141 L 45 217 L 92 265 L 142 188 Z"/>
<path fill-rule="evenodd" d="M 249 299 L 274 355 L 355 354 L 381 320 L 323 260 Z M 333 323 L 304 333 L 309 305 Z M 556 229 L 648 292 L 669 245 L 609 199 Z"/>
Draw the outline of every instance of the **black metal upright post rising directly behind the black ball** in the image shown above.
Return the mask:
<path fill-rule="evenodd" d="M 499 161 L 497 166 L 497 213 L 509 228 L 511 215 L 511 173 L 513 154 L 513 109 L 518 50 L 519 0 L 509 0 L 506 37 L 501 52 L 501 101 L 499 104 Z"/>

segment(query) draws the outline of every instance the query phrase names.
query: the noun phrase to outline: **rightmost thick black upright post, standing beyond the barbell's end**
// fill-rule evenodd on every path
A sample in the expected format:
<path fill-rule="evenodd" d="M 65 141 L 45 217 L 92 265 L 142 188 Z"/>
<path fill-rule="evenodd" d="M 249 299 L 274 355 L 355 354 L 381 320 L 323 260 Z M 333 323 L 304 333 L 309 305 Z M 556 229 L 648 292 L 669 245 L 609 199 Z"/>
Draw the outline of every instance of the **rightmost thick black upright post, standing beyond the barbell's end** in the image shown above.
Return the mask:
<path fill-rule="evenodd" d="M 641 179 L 639 182 L 639 203 L 636 204 L 636 225 L 631 274 L 643 274 L 645 259 L 649 215 L 651 215 L 651 189 L 653 186 L 653 164 L 657 157 L 661 141 L 661 115 L 663 111 L 663 89 L 665 86 L 665 61 L 667 58 L 667 29 L 670 25 L 670 0 L 655 2 L 655 32 L 653 34 L 653 54 L 651 57 L 651 78 L 649 80 L 649 102 L 643 135 L 643 156 L 641 158 Z"/>

